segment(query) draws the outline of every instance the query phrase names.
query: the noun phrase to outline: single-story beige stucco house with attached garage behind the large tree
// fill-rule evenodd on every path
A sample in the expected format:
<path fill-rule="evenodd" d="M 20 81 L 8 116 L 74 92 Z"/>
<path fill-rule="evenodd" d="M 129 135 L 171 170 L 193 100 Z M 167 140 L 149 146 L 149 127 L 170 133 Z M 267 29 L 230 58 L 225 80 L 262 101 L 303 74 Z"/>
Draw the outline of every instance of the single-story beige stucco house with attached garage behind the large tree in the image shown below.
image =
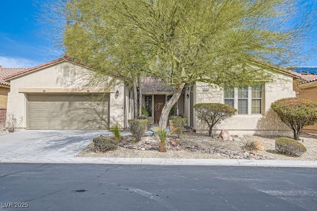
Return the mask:
<path fill-rule="evenodd" d="M 291 134 L 270 105 L 281 98 L 295 97 L 293 79 L 300 77 L 274 68 L 276 80 L 256 87 L 224 90 L 202 82 L 186 86 L 178 102 L 179 114 L 187 118 L 188 126 L 201 132 L 207 127 L 197 119 L 193 106 L 223 103 L 234 106 L 238 113 L 218 125 L 218 130 L 228 129 L 232 135 Z M 127 120 L 133 118 L 132 90 L 120 81 L 113 87 L 87 87 L 91 71 L 88 64 L 64 56 L 11 74 L 5 77 L 10 82 L 7 111 L 23 117 L 23 129 L 97 130 L 112 123 L 126 128 Z M 150 124 L 158 123 L 161 109 L 172 93 L 173 88 L 158 78 L 142 79 L 143 106 L 150 114 Z"/>

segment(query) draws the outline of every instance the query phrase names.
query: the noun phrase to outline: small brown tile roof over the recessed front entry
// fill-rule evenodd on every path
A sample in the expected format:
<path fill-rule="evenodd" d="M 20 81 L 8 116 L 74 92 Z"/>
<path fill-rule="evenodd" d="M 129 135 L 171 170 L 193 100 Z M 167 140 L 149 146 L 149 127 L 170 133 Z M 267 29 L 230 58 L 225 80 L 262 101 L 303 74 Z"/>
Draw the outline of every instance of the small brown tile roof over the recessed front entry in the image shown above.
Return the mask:
<path fill-rule="evenodd" d="M 144 77 L 141 79 L 142 93 L 144 94 L 156 94 L 166 93 L 170 94 L 174 92 L 174 87 L 165 85 L 160 78 L 156 77 Z"/>

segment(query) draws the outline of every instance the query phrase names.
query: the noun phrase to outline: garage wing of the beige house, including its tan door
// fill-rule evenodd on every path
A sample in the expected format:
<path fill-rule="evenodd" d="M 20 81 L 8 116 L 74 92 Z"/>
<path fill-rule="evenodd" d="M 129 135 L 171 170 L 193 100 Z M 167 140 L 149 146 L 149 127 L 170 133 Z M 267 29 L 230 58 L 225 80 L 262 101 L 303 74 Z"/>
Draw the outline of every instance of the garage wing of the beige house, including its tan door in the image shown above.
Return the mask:
<path fill-rule="evenodd" d="M 131 118 L 129 90 L 87 87 L 89 65 L 64 56 L 5 77 L 10 82 L 7 112 L 23 117 L 23 129 L 105 130 Z"/>

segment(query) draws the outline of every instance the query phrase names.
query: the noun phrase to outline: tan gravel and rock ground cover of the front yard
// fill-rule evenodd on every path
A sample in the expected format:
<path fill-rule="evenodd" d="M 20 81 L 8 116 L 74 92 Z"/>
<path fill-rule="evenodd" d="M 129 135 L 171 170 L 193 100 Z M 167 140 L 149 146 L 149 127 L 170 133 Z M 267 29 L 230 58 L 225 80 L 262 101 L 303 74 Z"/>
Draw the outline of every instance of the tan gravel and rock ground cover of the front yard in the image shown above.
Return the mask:
<path fill-rule="evenodd" d="M 317 160 L 317 136 L 303 133 L 300 142 L 307 148 L 301 157 L 291 157 L 277 154 L 273 136 L 232 136 L 234 141 L 223 141 L 217 137 L 211 138 L 207 134 L 184 133 L 180 139 L 176 135 L 167 138 L 167 153 L 157 151 L 159 138 L 146 136 L 138 143 L 132 141 L 132 136 L 123 138 L 117 150 L 106 153 L 96 153 L 93 143 L 82 150 L 77 157 L 99 158 L 196 158 L 196 159 L 280 159 L 280 160 Z M 260 140 L 264 151 L 244 151 L 243 145 L 247 141 Z"/>

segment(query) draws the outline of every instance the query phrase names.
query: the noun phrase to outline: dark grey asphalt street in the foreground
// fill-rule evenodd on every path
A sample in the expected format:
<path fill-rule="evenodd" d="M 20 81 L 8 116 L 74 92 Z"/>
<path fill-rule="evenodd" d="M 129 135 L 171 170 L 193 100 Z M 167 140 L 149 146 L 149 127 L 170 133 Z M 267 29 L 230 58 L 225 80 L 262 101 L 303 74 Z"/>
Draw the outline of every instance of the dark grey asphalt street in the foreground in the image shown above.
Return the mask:
<path fill-rule="evenodd" d="M 0 210 L 317 210 L 317 169 L 0 163 Z"/>

